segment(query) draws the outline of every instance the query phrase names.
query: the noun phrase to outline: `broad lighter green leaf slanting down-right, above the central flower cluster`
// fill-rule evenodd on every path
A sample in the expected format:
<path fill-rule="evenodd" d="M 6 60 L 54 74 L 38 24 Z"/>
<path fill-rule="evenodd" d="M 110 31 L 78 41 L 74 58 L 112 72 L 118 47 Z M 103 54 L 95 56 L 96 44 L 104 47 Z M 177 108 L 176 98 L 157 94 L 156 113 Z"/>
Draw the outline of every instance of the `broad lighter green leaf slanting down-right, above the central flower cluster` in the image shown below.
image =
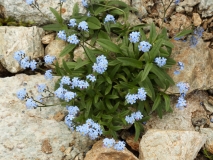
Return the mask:
<path fill-rule="evenodd" d="M 98 39 L 97 42 L 101 47 L 103 47 L 106 50 L 109 50 L 115 53 L 121 53 L 121 49 L 108 39 Z"/>

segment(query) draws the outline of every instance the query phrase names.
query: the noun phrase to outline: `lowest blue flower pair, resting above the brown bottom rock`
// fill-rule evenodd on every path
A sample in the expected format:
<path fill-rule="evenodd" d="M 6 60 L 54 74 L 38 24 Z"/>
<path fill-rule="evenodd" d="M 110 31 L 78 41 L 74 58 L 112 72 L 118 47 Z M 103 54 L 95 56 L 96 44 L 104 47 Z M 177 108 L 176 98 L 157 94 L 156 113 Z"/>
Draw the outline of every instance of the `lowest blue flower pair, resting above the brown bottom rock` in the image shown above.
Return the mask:
<path fill-rule="evenodd" d="M 117 151 L 122 151 L 125 148 L 125 142 L 124 141 L 118 141 L 115 142 L 113 138 L 104 138 L 103 139 L 103 146 L 107 148 L 113 147 Z"/>

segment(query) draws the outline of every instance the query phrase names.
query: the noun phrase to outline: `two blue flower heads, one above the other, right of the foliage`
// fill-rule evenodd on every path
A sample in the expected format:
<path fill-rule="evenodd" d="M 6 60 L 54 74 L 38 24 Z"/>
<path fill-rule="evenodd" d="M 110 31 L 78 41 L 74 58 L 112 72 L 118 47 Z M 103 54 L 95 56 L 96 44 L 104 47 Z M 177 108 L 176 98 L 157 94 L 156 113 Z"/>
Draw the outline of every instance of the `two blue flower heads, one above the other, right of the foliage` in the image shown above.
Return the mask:
<path fill-rule="evenodd" d="M 187 105 L 186 100 L 184 98 L 185 98 L 186 92 L 189 90 L 189 84 L 184 82 L 179 82 L 176 86 L 178 87 L 180 92 L 180 97 L 178 98 L 178 103 L 176 104 L 176 107 L 182 109 L 183 107 L 186 107 Z"/>

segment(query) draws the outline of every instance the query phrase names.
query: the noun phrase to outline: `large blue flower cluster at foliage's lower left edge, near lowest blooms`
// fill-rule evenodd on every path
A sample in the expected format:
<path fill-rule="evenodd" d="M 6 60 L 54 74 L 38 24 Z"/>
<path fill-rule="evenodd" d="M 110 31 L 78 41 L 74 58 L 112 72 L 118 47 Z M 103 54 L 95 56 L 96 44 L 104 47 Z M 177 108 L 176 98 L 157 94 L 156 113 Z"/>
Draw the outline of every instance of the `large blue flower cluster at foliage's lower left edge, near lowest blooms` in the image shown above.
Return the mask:
<path fill-rule="evenodd" d="M 103 133 L 101 126 L 92 119 L 87 119 L 85 124 L 77 126 L 76 131 L 84 136 L 88 135 L 92 140 L 98 138 Z"/>

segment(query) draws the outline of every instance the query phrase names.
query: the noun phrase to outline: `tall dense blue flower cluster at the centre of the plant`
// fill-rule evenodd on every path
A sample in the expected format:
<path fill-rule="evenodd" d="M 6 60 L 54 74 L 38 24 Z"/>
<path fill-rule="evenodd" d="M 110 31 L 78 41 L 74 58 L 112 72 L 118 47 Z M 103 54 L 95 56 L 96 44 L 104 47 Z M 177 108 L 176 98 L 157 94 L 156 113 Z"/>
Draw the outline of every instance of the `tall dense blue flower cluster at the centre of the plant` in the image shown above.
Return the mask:
<path fill-rule="evenodd" d="M 98 56 L 96 58 L 96 63 L 94 63 L 94 65 L 92 66 L 93 71 L 99 74 L 103 74 L 107 70 L 107 67 L 108 61 L 104 55 Z"/>

